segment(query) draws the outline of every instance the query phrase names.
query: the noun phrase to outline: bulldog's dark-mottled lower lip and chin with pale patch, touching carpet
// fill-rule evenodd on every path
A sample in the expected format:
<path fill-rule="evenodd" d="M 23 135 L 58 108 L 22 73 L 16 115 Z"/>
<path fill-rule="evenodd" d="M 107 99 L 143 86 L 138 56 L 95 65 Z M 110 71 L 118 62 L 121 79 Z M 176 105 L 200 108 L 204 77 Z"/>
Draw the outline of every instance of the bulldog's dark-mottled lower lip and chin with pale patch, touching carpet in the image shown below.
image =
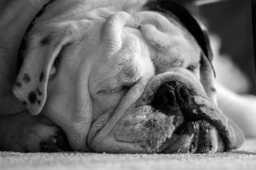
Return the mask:
<path fill-rule="evenodd" d="M 214 153 L 224 146 L 218 131 L 205 120 L 182 124 L 167 141 L 161 153 Z"/>

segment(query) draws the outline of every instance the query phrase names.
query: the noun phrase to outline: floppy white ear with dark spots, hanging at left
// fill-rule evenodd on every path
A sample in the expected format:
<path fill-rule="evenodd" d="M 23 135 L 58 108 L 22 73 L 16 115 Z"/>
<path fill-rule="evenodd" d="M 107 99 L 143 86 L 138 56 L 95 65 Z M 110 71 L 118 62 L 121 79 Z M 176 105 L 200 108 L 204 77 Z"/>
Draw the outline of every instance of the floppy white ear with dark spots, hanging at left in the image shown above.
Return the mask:
<path fill-rule="evenodd" d="M 78 31 L 74 25 L 65 23 L 47 25 L 34 32 L 28 38 L 13 93 L 32 115 L 38 115 L 45 104 L 47 83 L 54 72 L 54 60 L 63 46 L 76 38 Z"/>

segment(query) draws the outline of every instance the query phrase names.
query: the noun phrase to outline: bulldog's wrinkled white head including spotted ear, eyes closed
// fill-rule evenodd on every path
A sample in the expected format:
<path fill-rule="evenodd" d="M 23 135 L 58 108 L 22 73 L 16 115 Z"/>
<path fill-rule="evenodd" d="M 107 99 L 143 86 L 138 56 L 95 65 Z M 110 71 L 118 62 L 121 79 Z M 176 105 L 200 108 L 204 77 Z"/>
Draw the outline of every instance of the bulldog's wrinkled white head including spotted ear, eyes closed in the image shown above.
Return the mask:
<path fill-rule="evenodd" d="M 20 101 L 59 125 L 74 150 L 232 148 L 229 132 L 238 128 L 216 106 L 203 34 L 172 11 L 116 9 L 70 10 L 38 22 L 14 87 Z"/>

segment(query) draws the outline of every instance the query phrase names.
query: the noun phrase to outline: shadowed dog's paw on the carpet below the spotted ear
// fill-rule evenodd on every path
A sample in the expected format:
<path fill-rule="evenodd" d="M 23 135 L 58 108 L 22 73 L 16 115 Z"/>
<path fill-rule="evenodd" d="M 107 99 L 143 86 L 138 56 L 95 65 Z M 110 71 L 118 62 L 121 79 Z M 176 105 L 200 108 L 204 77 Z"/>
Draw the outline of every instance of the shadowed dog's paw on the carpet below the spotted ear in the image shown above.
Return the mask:
<path fill-rule="evenodd" d="M 42 121 L 42 119 L 44 119 Z M 60 152 L 69 151 L 67 137 L 59 127 L 46 119 L 32 118 L 20 124 L 12 136 L 10 150 L 15 152 Z"/>

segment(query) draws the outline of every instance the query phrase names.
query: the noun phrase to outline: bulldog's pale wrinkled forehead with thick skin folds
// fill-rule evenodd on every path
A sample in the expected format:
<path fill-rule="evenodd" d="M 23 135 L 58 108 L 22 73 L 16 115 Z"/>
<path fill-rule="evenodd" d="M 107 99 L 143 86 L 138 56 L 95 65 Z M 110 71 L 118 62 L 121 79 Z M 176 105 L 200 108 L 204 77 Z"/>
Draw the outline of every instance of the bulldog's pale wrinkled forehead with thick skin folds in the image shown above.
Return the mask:
<path fill-rule="evenodd" d="M 120 51 L 125 55 L 125 52 L 141 53 L 145 50 L 148 50 L 152 60 L 159 57 L 163 64 L 176 60 L 182 65 L 184 61 L 199 57 L 200 48 L 195 39 L 173 15 L 166 17 L 156 11 L 132 14 L 109 11 L 108 17 L 100 20 L 95 17 L 93 23 L 90 31 L 93 30 L 95 35 L 90 34 L 93 38 L 99 36 L 100 45 L 104 48 L 102 57 L 106 59 Z"/>

